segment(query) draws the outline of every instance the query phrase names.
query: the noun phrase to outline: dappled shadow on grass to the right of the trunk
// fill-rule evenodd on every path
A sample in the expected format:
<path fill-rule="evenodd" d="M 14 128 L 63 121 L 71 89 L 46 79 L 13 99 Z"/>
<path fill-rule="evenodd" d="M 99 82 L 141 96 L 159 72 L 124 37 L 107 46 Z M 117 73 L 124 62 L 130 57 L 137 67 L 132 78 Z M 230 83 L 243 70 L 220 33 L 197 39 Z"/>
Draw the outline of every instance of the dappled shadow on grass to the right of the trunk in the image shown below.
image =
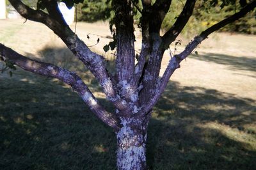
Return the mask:
<path fill-rule="evenodd" d="M 148 166 L 255 169 L 255 104 L 214 89 L 170 82 L 149 124 Z"/>

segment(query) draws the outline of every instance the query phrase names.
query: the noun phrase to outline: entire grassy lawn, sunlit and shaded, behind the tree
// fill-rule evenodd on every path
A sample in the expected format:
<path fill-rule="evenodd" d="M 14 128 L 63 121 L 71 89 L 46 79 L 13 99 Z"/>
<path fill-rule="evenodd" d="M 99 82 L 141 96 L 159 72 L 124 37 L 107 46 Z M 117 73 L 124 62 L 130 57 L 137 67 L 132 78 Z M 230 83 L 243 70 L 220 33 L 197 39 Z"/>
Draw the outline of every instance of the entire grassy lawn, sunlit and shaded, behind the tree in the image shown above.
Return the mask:
<path fill-rule="evenodd" d="M 78 23 L 77 34 L 93 44 L 97 36 L 86 40 L 84 31 L 108 35 L 108 26 L 95 32 L 99 25 Z M 154 108 L 150 169 L 256 169 L 256 37 L 216 36 L 182 63 Z M 101 38 L 100 45 L 108 41 Z M 113 109 L 92 74 L 44 26 L 0 20 L 0 42 L 78 70 L 102 105 Z M 166 54 L 163 68 L 167 61 Z M 13 77 L 0 74 L 0 169 L 115 169 L 115 150 L 115 133 L 65 84 L 19 68 Z"/>

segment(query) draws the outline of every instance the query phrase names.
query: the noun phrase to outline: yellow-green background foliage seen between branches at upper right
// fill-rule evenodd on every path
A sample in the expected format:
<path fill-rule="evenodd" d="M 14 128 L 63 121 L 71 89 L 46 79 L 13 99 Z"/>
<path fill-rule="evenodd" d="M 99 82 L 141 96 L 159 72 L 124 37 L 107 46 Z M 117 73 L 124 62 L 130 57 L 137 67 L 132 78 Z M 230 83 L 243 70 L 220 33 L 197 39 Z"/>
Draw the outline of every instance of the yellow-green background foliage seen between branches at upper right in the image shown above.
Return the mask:
<path fill-rule="evenodd" d="M 172 6 L 164 19 L 162 24 L 163 30 L 168 29 L 175 22 L 175 19 L 179 15 L 184 2 L 179 0 L 175 0 L 172 3 Z M 217 1 L 215 5 L 212 4 L 211 1 L 203 1 L 200 0 L 196 3 L 195 10 L 193 15 L 191 16 L 188 24 L 183 29 L 182 34 L 187 35 L 195 35 L 196 33 L 200 33 L 209 26 L 216 24 L 220 20 L 228 17 L 239 10 L 238 1 L 236 4 L 226 3 L 225 6 L 223 2 Z M 179 9 L 179 10 L 177 10 Z M 236 31 L 239 33 L 248 33 L 248 34 L 256 34 L 256 20 L 254 13 L 248 13 L 242 19 L 237 20 L 236 22 L 229 24 L 221 29 L 221 31 Z"/>

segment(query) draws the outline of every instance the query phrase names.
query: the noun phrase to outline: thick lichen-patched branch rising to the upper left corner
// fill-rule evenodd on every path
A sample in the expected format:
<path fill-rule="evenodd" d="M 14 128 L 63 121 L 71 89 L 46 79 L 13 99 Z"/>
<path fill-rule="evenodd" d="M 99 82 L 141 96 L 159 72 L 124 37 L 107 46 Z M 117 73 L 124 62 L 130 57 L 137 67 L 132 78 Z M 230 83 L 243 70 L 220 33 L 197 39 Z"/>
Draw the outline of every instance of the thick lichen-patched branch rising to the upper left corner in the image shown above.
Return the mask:
<path fill-rule="evenodd" d="M 61 40 L 63 40 L 63 42 L 67 45 L 68 49 L 70 49 L 73 54 L 89 68 L 96 79 L 100 82 L 104 93 L 113 103 L 113 105 L 115 105 L 115 107 L 119 110 L 126 107 L 124 104 L 122 104 L 121 98 L 118 97 L 115 91 L 116 84 L 114 84 L 109 78 L 103 56 L 92 52 L 70 29 L 70 27 L 67 25 L 63 26 L 60 24 L 60 22 L 50 17 L 47 13 L 41 10 L 33 10 L 23 4 L 20 0 L 10 0 L 10 3 L 15 10 L 22 15 L 22 17 L 36 22 L 41 22 L 52 29 L 56 35 L 60 36 Z"/>

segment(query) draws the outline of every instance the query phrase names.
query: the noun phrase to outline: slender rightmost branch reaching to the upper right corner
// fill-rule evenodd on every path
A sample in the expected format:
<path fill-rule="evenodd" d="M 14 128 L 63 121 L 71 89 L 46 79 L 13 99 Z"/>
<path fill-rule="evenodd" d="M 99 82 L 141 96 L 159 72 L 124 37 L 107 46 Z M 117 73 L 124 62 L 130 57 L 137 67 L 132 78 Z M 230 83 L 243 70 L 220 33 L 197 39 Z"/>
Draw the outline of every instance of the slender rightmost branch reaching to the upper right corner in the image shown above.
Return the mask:
<path fill-rule="evenodd" d="M 191 52 L 203 41 L 205 38 L 207 38 L 208 35 L 213 33 L 214 31 L 217 31 L 221 27 L 226 26 L 227 24 L 230 24 L 237 19 L 240 19 L 241 17 L 244 17 L 246 13 L 252 11 L 256 7 L 256 1 L 252 1 L 252 3 L 247 4 L 244 6 L 243 9 L 241 9 L 239 12 L 235 13 L 234 15 L 231 15 L 230 17 L 227 17 L 227 19 L 221 20 L 217 24 L 214 24 L 213 26 L 209 27 L 205 31 L 203 31 L 199 36 L 196 36 L 192 42 L 190 42 L 186 48 L 180 52 L 180 54 L 177 54 L 173 56 L 172 59 L 170 59 L 169 64 L 164 71 L 163 77 L 161 78 L 160 83 L 157 86 L 157 90 L 154 93 L 154 97 L 148 102 L 148 104 L 145 106 L 141 114 L 146 114 L 148 111 L 154 107 L 154 105 L 157 103 L 159 98 L 161 97 L 164 89 L 166 88 L 166 85 L 172 76 L 173 72 L 180 67 L 180 62 L 187 58 Z"/>

